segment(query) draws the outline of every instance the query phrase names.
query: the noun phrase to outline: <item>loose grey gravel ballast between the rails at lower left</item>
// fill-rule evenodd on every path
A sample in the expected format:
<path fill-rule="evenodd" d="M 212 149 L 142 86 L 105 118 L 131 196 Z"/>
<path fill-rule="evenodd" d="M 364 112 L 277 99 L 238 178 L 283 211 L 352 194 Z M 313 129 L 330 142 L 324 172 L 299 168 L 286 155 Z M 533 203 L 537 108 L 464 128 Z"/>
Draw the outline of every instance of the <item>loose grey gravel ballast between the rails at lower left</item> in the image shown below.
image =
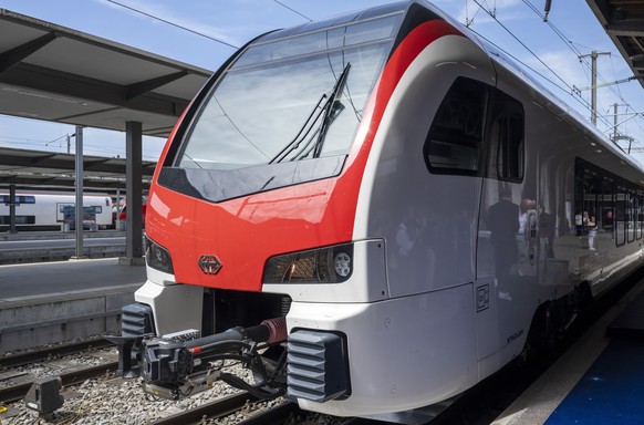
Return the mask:
<path fill-rule="evenodd" d="M 11 375 L 17 376 L 17 381 L 24 379 L 24 375 L 31 375 L 35 379 L 53 377 L 64 373 L 69 367 L 82 364 L 98 365 L 115 361 L 117 356 L 118 352 L 115 348 L 106 348 L 93 350 L 91 353 L 79 353 L 63 359 L 50 359 L 50 361 L 34 363 L 29 366 L 13 367 L 10 372 Z M 0 362 L 1 360 L 2 356 L 0 356 Z M 242 377 L 247 382 L 252 381 L 252 373 L 247 369 L 242 369 L 238 363 L 227 365 L 225 371 Z M 0 369 L 0 388 L 17 383 L 17 381 L 8 377 L 9 373 L 2 377 L 1 375 L 4 372 L 8 371 Z M 87 380 L 80 385 L 63 387 L 61 395 L 64 397 L 64 404 L 46 421 L 39 416 L 37 411 L 27 408 L 24 401 L 9 405 L 0 403 L 0 425 L 142 425 L 238 392 L 239 390 L 224 382 L 215 382 L 211 390 L 197 393 L 184 400 L 168 401 L 145 394 L 142 388 L 142 381 L 138 379 L 123 380 L 114 374 L 107 374 Z M 258 411 L 271 408 L 284 402 L 284 398 L 279 397 L 272 401 L 249 404 L 229 416 L 219 419 L 202 419 L 200 425 L 238 424 Z M 342 425 L 345 422 L 346 418 L 318 413 L 309 413 L 303 417 L 293 419 L 293 423 L 307 425 Z"/>

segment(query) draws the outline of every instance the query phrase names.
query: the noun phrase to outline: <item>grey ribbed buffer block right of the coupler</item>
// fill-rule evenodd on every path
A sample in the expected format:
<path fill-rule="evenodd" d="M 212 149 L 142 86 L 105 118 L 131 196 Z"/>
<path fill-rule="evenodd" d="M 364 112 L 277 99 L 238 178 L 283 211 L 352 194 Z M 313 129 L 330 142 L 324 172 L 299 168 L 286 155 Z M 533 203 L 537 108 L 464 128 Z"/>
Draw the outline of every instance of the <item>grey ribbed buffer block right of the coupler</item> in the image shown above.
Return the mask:
<path fill-rule="evenodd" d="M 295 331 L 288 340 L 287 395 L 323 403 L 349 396 L 344 339 L 329 332 Z"/>

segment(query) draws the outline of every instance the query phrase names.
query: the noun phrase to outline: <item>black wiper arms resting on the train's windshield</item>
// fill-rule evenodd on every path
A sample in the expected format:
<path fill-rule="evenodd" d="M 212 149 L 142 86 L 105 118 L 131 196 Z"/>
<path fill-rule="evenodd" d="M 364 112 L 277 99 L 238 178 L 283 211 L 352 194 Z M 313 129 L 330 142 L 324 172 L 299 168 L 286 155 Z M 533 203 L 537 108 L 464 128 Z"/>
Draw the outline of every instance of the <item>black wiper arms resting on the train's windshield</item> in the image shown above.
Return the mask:
<path fill-rule="evenodd" d="M 329 126 L 344 110 L 344 105 L 340 102 L 335 102 L 335 99 L 344 87 L 350 69 L 351 63 L 347 62 L 342 70 L 342 73 L 335 81 L 335 84 L 331 89 L 331 92 L 322 94 L 318 103 L 315 103 L 313 111 L 311 111 L 311 114 L 298 131 L 295 137 L 289 142 L 289 144 L 284 146 L 284 148 L 280 151 L 273 158 L 271 158 L 269 164 L 281 163 L 291 153 L 293 153 L 293 151 L 298 149 L 302 142 L 304 142 L 307 138 L 308 139 L 304 145 L 295 155 L 292 156 L 290 160 L 303 159 L 309 156 L 311 151 L 313 151 L 314 158 L 320 156 L 324 136 L 326 135 Z M 315 127 L 315 123 L 318 123 L 320 118 L 322 118 L 322 122 L 319 126 Z M 315 129 L 313 131 L 313 128 Z M 311 145 L 313 141 L 315 141 L 315 143 Z"/>

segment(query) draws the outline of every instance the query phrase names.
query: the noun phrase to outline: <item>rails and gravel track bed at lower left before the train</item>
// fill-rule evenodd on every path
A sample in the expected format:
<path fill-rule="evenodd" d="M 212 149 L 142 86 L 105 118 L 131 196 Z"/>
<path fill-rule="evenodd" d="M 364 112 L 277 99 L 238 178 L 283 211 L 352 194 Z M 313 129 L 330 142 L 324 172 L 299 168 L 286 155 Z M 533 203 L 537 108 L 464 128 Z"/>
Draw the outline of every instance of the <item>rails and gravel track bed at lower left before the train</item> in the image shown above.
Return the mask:
<path fill-rule="evenodd" d="M 106 348 L 110 350 L 106 351 Z M 100 353 L 98 356 L 103 360 L 100 364 L 79 362 L 79 359 L 95 356 L 96 353 Z M 96 416 L 92 411 L 103 412 L 111 408 L 122 412 L 138 410 L 143 412 L 143 416 L 146 411 L 150 411 L 144 422 L 155 425 L 218 423 L 219 418 L 227 416 L 227 423 L 278 425 L 285 424 L 299 412 L 295 404 L 267 403 L 246 392 L 225 396 L 218 396 L 217 392 L 207 393 L 204 394 L 204 398 L 208 401 L 201 404 L 193 404 L 190 398 L 181 402 L 154 401 L 143 394 L 137 380 L 114 376 L 118 366 L 116 357 L 113 344 L 101 340 L 61 344 L 0 357 L 0 424 L 4 424 L 6 418 L 10 418 L 9 423 L 33 423 L 38 413 L 27 410 L 23 398 L 33 382 L 45 376 L 59 376 L 63 385 L 61 395 L 65 404 L 54 413 L 53 418 L 50 418 L 54 424 L 85 423 L 87 417 Z M 135 398 L 135 403 L 118 408 L 120 398 Z M 175 411 L 178 412 L 173 413 Z M 95 423 L 139 422 L 132 418 L 113 419 L 98 419 Z M 295 422 L 291 421 L 290 424 Z"/>

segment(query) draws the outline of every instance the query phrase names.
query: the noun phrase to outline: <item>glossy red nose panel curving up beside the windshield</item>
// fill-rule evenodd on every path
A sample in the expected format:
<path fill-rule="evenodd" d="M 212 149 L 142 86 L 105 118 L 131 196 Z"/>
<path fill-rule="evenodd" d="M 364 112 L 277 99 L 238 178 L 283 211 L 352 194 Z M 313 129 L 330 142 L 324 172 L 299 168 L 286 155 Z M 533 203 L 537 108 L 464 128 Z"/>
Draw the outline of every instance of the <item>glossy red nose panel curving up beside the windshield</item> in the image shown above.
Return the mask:
<path fill-rule="evenodd" d="M 447 34 L 459 33 L 444 21 L 429 21 L 398 45 L 339 177 L 212 204 L 158 186 L 155 174 L 146 232 L 170 252 L 177 281 L 260 291 L 271 256 L 352 240 L 364 167 L 391 95 L 423 49 Z"/>

